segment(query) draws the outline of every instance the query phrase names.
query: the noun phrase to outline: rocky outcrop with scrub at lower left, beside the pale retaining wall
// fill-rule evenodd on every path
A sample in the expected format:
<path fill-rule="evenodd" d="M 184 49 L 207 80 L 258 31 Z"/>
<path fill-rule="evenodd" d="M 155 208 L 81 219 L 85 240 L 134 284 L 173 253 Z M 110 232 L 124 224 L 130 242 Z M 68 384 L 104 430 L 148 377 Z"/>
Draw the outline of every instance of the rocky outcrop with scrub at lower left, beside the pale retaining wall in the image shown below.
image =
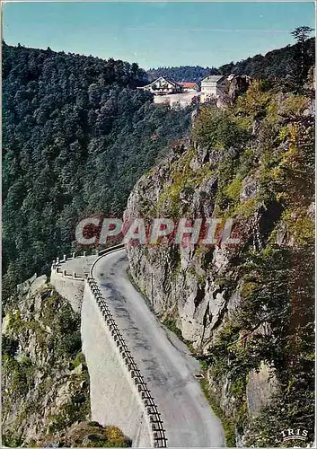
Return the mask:
<path fill-rule="evenodd" d="M 81 344 L 80 315 L 45 276 L 17 287 L 3 320 L 4 445 L 130 444 L 118 428 L 89 421 L 89 374 Z"/>

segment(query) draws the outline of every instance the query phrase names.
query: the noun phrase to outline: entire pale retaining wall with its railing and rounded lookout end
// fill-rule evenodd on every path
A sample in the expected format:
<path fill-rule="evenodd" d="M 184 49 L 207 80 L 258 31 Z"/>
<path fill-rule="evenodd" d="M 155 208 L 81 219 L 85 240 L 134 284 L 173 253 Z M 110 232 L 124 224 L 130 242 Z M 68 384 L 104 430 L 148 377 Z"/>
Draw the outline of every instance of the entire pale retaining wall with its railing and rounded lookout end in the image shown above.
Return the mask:
<path fill-rule="evenodd" d="M 101 251 L 118 251 L 117 245 Z M 82 255 L 81 255 L 82 256 Z M 84 253 L 85 256 L 85 253 Z M 83 352 L 90 375 L 92 420 L 118 426 L 134 447 L 167 447 L 163 421 L 151 392 L 101 291 L 92 277 L 67 273 L 63 262 L 54 260 L 50 282 L 76 312 L 81 312 Z"/>

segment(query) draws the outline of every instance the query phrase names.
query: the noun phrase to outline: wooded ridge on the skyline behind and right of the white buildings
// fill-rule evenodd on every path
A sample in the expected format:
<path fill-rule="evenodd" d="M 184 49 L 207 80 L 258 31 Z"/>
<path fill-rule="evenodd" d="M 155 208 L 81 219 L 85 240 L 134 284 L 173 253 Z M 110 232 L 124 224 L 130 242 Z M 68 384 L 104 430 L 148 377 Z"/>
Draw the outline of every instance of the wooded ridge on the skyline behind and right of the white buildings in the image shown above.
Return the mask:
<path fill-rule="evenodd" d="M 313 66 L 314 64 L 314 47 L 315 39 L 311 38 L 306 41 L 307 64 Z M 258 79 L 283 79 L 289 75 L 297 66 L 297 61 L 300 54 L 301 44 L 287 45 L 284 48 L 278 48 L 269 51 L 265 56 L 255 55 L 248 57 L 236 63 L 231 62 L 215 67 L 200 67 L 200 66 L 181 66 L 181 67 L 158 67 L 151 68 L 147 71 L 149 81 L 158 76 L 170 76 L 176 81 L 200 81 L 207 75 L 250 75 L 252 78 Z"/>

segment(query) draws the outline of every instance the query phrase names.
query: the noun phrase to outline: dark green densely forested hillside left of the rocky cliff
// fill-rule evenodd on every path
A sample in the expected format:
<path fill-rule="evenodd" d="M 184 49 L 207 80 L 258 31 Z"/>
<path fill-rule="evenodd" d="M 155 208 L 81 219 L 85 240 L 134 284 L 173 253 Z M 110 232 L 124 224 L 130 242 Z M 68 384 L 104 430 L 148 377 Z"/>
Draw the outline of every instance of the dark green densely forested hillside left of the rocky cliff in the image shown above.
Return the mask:
<path fill-rule="evenodd" d="M 85 215 L 120 216 L 189 110 L 154 107 L 136 64 L 3 43 L 4 295 L 69 249 Z"/>

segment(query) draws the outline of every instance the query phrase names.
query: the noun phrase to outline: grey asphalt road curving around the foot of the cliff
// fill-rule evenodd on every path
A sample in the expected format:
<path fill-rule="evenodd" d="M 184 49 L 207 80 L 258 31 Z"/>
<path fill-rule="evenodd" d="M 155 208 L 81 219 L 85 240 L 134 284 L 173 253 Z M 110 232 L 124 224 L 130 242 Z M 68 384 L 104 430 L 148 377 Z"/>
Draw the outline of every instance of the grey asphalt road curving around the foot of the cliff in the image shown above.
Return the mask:
<path fill-rule="evenodd" d="M 198 361 L 165 330 L 127 277 L 126 251 L 102 257 L 93 267 L 101 293 L 162 414 L 169 447 L 224 447 L 223 427 L 194 374 Z"/>

